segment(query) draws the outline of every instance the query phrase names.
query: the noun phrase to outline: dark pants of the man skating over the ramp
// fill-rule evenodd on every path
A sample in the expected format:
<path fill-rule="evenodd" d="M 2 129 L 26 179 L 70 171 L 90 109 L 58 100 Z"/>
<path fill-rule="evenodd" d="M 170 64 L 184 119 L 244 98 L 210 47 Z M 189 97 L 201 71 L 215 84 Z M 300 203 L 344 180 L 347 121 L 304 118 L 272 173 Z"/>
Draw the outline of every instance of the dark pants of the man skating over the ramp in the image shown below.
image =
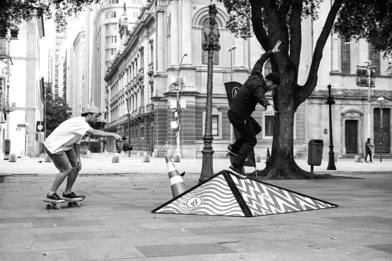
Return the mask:
<path fill-rule="evenodd" d="M 237 118 L 230 112 L 230 110 L 227 115 L 230 123 L 233 124 L 233 126 L 241 134 L 241 137 L 232 145 L 232 149 L 234 151 L 238 151 L 238 156 L 233 161 L 233 164 L 242 168 L 246 158 L 257 143 L 256 135 L 261 132 L 261 127 L 252 116 Z"/>

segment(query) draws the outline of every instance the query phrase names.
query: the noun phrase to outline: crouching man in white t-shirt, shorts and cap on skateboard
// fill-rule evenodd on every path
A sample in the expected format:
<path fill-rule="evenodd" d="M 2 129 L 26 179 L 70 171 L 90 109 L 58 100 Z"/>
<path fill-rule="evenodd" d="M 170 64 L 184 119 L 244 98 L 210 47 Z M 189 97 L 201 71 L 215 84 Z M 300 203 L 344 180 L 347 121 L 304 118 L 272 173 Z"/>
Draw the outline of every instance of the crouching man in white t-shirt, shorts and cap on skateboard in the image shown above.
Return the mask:
<path fill-rule="evenodd" d="M 72 192 L 72 186 L 81 170 L 79 149 L 81 139 L 86 133 L 96 137 L 121 139 L 121 136 L 118 134 L 100 131 L 91 127 L 99 119 L 100 115 L 102 114 L 98 107 L 88 106 L 81 116 L 65 120 L 46 138 L 44 142 L 45 151 L 60 171 L 54 180 L 52 189 L 46 196 L 48 201 L 61 203 L 65 201 L 64 199 L 82 200 L 82 198 Z M 71 146 L 73 146 L 74 152 Z M 67 178 L 67 185 L 63 192 L 63 199 L 57 195 L 57 189 L 65 178 Z"/>

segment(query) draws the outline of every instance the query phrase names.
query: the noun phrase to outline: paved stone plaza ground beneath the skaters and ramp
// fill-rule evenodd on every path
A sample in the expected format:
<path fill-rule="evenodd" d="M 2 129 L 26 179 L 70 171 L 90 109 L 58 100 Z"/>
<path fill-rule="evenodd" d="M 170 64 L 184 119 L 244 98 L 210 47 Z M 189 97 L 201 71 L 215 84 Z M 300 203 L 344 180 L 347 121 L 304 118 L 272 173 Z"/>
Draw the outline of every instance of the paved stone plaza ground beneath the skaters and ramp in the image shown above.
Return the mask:
<path fill-rule="evenodd" d="M 392 260 L 392 174 L 377 163 L 338 173 L 351 179 L 268 181 L 337 208 L 242 218 L 151 213 L 172 198 L 164 159 L 110 160 L 82 160 L 74 191 L 87 198 L 61 210 L 42 202 L 52 163 L 0 162 L 13 174 L 0 183 L 0 260 Z M 197 161 L 174 165 L 198 183 Z"/>

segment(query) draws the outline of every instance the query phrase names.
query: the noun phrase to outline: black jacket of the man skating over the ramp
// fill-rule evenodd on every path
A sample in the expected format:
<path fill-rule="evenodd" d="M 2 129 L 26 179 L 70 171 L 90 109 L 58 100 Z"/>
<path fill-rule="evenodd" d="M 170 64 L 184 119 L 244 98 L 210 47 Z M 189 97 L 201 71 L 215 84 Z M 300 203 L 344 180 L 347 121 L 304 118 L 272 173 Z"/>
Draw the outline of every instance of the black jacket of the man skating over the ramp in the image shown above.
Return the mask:
<path fill-rule="evenodd" d="M 230 111 L 236 117 L 246 118 L 250 116 L 255 111 L 257 103 L 260 103 L 265 108 L 270 105 L 268 99 L 264 96 L 267 92 L 267 86 L 262 69 L 265 61 L 272 55 L 273 52 L 269 50 L 260 57 L 253 67 L 252 74 L 238 91 L 230 106 Z"/>

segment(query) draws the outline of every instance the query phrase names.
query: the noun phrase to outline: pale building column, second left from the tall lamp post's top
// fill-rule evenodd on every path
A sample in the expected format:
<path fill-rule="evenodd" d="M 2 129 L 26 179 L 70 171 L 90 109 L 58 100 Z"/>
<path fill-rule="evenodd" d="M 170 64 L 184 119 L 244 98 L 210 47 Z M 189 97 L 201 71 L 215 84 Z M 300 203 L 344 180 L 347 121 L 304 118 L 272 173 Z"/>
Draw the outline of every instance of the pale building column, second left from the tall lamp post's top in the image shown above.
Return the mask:
<path fill-rule="evenodd" d="M 178 0 L 171 0 L 170 66 L 178 65 Z"/>

